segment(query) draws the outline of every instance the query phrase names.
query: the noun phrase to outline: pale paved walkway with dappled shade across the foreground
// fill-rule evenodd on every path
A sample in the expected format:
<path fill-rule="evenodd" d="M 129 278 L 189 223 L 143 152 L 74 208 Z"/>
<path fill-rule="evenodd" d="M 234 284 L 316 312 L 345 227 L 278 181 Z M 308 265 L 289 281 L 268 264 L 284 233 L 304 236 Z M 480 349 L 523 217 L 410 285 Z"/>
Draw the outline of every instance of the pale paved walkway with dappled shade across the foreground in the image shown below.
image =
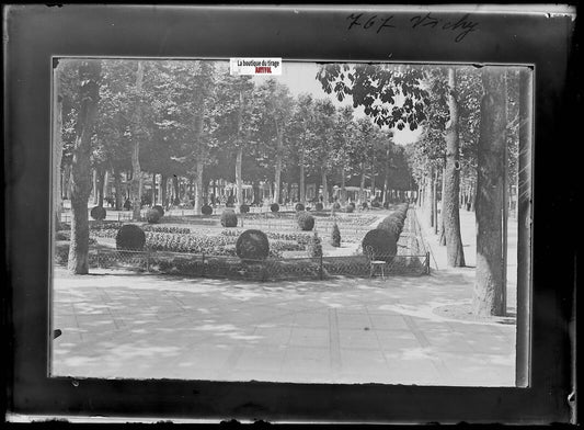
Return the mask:
<path fill-rule="evenodd" d="M 433 312 L 470 303 L 472 281 L 471 268 L 294 283 L 56 269 L 53 374 L 514 385 L 514 325 Z"/>

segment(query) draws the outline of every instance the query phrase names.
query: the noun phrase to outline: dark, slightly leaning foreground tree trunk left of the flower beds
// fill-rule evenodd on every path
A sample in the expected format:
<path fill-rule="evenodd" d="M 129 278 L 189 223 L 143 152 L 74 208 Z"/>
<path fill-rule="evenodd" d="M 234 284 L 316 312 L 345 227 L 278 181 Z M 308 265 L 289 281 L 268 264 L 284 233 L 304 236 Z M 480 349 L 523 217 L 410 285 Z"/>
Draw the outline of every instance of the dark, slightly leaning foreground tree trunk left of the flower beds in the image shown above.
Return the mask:
<path fill-rule="evenodd" d="M 100 60 L 79 65 L 80 109 L 76 123 L 76 139 L 71 168 L 71 239 L 68 269 L 75 274 L 89 273 L 88 201 L 91 192 L 91 135 L 100 98 Z"/>

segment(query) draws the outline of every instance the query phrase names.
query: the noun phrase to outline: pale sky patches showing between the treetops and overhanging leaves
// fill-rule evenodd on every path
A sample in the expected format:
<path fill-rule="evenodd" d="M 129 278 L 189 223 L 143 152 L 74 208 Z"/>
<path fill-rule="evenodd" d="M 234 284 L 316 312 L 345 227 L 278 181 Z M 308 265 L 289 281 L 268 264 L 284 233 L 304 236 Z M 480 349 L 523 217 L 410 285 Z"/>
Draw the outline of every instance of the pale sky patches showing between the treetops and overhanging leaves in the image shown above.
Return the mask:
<path fill-rule="evenodd" d="M 316 99 L 323 99 L 328 98 L 330 99 L 336 106 L 344 106 L 344 105 L 352 105 L 353 102 L 351 100 L 343 100 L 340 102 L 334 94 L 327 94 L 324 90 L 322 89 L 320 82 L 316 79 L 317 71 L 319 66 L 316 63 L 299 63 L 299 61 L 290 61 L 283 64 L 282 75 L 280 76 L 274 76 L 274 75 L 256 75 L 253 77 L 253 80 L 261 84 L 262 81 L 268 78 L 275 78 L 285 83 L 291 94 L 294 97 L 302 93 L 308 92 L 312 94 Z M 363 108 L 359 106 L 355 110 L 355 116 L 366 116 L 363 112 Z M 420 137 L 420 134 L 422 133 L 422 129 L 419 128 L 414 132 L 411 132 L 409 128 L 399 131 L 397 128 L 393 129 L 393 140 L 398 145 L 406 145 L 411 142 L 417 140 Z"/>

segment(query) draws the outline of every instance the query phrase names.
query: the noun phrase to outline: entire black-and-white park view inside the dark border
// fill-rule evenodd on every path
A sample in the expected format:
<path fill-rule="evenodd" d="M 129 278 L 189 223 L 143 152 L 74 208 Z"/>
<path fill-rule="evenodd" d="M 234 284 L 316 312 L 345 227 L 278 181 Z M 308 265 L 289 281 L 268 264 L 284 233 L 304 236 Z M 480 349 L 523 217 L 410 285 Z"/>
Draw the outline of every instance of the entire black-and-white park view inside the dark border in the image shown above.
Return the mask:
<path fill-rule="evenodd" d="M 56 58 L 50 374 L 514 386 L 530 79 Z"/>

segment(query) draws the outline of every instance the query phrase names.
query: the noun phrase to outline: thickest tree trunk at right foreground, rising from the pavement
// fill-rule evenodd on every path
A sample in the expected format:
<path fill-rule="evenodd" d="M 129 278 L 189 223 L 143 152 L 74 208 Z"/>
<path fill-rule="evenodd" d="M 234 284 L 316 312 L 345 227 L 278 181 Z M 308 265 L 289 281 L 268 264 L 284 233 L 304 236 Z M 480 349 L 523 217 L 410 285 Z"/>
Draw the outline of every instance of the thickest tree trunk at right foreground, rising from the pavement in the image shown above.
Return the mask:
<path fill-rule="evenodd" d="M 483 67 L 484 95 L 477 176 L 477 276 L 473 310 L 477 315 L 503 316 L 506 313 L 505 252 L 503 216 L 506 188 L 506 80 L 502 67 Z"/>

